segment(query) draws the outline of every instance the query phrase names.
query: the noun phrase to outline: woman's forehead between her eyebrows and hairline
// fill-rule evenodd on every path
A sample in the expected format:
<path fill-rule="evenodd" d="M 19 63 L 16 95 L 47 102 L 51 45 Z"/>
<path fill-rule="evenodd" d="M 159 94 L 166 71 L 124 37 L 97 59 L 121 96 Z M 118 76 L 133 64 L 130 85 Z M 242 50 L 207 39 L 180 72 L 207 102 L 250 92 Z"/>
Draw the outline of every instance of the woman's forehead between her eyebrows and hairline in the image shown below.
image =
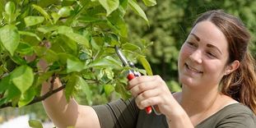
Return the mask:
<path fill-rule="evenodd" d="M 201 21 L 193 27 L 191 34 L 196 34 L 200 39 L 199 42 L 207 44 L 212 44 L 219 48 L 222 53 L 226 53 L 228 49 L 228 43 L 226 41 L 226 36 L 219 30 L 216 25 L 211 21 Z M 193 37 L 193 35 L 189 35 Z"/>

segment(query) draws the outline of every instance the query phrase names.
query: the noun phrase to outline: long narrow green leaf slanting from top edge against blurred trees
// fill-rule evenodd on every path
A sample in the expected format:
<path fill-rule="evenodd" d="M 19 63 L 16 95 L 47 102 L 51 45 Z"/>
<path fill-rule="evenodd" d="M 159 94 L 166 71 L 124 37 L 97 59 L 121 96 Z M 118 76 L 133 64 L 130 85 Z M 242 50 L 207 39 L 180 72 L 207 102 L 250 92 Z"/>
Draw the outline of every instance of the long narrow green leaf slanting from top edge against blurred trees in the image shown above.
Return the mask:
<path fill-rule="evenodd" d="M 145 21 L 147 21 L 147 24 L 148 24 L 147 16 L 145 12 L 142 10 L 142 8 L 137 4 L 137 2 L 134 2 L 133 0 L 129 0 L 128 5 L 133 9 L 133 11 L 137 13 L 138 16 L 141 16 Z"/>

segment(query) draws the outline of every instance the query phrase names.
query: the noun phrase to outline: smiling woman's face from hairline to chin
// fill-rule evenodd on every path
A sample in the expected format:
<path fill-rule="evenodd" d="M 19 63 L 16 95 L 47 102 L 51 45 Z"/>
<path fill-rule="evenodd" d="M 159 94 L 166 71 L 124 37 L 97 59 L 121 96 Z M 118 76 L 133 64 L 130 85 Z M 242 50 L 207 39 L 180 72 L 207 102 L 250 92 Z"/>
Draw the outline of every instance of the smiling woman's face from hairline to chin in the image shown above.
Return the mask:
<path fill-rule="evenodd" d="M 190 88 L 219 85 L 229 57 L 225 35 L 211 21 L 193 27 L 179 53 L 179 81 Z"/>

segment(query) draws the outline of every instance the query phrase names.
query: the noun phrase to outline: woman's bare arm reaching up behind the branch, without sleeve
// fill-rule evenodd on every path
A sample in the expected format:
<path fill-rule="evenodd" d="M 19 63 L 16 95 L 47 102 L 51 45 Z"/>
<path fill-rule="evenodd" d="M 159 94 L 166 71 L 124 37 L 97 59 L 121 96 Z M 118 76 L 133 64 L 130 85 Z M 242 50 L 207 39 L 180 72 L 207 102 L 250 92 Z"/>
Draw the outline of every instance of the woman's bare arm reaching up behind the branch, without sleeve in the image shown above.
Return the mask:
<path fill-rule="evenodd" d="M 62 84 L 58 78 L 54 80 L 54 89 Z M 44 82 L 41 94 L 49 91 L 49 83 Z M 67 126 L 79 127 L 100 127 L 100 121 L 95 110 L 89 106 L 79 105 L 75 99 L 67 103 L 63 91 L 53 94 L 43 101 L 43 106 L 54 125 L 60 128 Z"/>

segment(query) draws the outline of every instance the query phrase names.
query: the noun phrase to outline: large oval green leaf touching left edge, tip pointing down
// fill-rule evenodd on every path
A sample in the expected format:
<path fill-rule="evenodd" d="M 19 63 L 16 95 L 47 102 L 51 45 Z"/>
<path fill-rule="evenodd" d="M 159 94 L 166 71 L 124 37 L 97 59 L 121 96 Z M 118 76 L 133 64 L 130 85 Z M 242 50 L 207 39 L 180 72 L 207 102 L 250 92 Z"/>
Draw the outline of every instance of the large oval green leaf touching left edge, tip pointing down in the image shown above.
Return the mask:
<path fill-rule="evenodd" d="M 13 56 L 20 43 L 20 34 L 15 25 L 5 25 L 0 30 L 2 46 Z"/>

